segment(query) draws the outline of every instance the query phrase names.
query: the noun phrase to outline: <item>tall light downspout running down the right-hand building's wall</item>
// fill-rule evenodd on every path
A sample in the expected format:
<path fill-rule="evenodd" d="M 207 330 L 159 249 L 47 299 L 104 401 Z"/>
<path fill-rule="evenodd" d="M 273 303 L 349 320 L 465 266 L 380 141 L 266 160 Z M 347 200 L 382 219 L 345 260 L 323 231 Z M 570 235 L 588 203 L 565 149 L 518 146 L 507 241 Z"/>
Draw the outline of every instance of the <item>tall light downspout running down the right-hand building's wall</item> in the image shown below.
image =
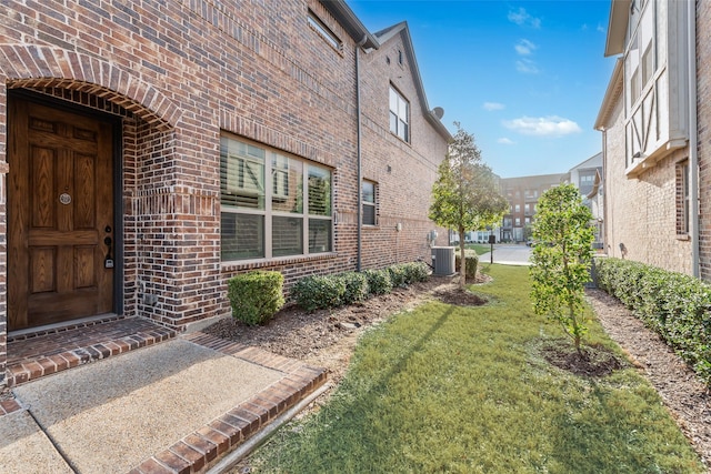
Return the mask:
<path fill-rule="evenodd" d="M 691 271 L 700 276 L 699 244 L 699 132 L 697 130 L 697 2 L 687 2 L 687 41 L 689 51 L 689 229 L 691 233 Z"/>

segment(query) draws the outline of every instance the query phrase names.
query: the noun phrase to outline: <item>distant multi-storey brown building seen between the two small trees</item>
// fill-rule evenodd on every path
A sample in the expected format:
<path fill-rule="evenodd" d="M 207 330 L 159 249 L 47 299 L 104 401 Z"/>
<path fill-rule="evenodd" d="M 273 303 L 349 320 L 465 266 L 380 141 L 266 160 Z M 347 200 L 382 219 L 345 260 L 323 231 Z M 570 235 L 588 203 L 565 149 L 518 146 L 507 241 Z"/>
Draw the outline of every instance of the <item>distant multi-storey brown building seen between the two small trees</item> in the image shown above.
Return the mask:
<path fill-rule="evenodd" d="M 509 212 L 504 214 L 499 229 L 500 241 L 524 242 L 529 238 L 525 229 L 533 223 L 535 205 L 541 194 L 568 179 L 568 173 L 502 178 L 501 193 L 509 201 Z"/>

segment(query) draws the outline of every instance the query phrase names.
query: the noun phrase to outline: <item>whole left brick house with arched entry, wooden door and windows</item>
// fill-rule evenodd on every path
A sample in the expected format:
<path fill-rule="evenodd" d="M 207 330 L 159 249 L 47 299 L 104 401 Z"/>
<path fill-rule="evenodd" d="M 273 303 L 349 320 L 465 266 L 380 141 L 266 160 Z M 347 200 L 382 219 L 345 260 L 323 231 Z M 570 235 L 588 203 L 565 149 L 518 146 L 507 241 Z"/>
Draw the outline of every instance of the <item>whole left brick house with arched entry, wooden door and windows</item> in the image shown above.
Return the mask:
<path fill-rule="evenodd" d="M 0 385 L 17 332 L 182 331 L 229 314 L 240 272 L 289 285 L 445 243 L 427 214 L 451 135 L 405 23 L 373 34 L 341 0 L 130 3 L 1 7 Z"/>

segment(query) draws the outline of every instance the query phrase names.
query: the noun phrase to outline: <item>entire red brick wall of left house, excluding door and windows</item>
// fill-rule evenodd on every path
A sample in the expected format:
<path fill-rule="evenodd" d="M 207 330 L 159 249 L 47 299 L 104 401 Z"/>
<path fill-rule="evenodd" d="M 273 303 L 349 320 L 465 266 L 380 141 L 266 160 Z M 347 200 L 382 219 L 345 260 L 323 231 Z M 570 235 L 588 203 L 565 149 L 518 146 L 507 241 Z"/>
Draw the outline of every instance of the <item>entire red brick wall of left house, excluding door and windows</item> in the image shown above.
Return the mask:
<path fill-rule="evenodd" d="M 291 284 L 307 274 L 353 270 L 360 191 L 356 44 L 343 28 L 316 0 L 280 1 L 278 9 L 273 2 L 233 0 L 126 3 L 10 2 L 0 24 L 0 77 L 9 88 L 123 117 L 124 313 L 181 327 L 227 314 L 226 280 L 236 273 L 278 270 Z M 343 41 L 342 51 L 308 26 L 308 8 Z M 361 53 L 363 178 L 378 183 L 380 222 L 363 232 L 364 268 L 428 255 L 430 186 L 445 151 L 444 139 L 421 115 L 409 71 L 384 64 L 385 54 L 394 59 L 395 44 Z M 411 103 L 409 144 L 388 130 L 390 80 Z M 333 253 L 220 262 L 220 130 L 333 169 Z M 399 222 L 403 229 L 397 233 Z M 439 243 L 443 238 L 440 231 Z M 4 265 L 2 252 L 3 273 Z M 2 373 L 4 297 L 0 314 Z"/>

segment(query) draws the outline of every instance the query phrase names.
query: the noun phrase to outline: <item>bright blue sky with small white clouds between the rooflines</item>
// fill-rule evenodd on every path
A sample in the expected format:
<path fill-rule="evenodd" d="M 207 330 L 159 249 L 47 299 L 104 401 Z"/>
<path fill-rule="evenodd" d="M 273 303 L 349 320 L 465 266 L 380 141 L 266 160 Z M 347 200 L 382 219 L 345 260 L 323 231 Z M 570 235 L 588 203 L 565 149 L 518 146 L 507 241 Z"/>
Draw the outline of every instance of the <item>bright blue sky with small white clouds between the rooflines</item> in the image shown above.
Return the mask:
<path fill-rule="evenodd" d="M 565 173 L 602 151 L 610 0 L 347 3 L 372 33 L 408 22 L 430 109 L 501 178 Z"/>

